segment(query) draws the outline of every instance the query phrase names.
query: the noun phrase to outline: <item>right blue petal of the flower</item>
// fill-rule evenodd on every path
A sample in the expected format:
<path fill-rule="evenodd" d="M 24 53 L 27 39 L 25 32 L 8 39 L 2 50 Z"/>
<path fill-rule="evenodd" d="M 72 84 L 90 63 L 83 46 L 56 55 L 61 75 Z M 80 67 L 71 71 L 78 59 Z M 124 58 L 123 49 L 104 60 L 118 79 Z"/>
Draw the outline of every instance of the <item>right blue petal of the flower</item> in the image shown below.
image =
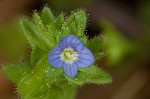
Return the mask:
<path fill-rule="evenodd" d="M 83 50 L 78 53 L 78 56 L 78 60 L 75 62 L 78 67 L 83 68 L 90 66 L 94 63 L 94 56 L 91 51 L 86 47 L 84 47 Z"/>

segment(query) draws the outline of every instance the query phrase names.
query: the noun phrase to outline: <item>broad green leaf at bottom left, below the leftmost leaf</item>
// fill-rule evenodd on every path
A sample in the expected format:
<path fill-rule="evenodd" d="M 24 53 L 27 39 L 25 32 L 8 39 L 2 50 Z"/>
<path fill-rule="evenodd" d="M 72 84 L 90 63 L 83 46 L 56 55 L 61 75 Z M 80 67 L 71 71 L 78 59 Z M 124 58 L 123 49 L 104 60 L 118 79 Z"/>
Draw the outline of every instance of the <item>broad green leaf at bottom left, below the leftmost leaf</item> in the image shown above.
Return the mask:
<path fill-rule="evenodd" d="M 17 87 L 18 92 L 26 97 L 40 97 L 47 93 L 48 86 L 45 80 L 32 73 L 21 80 Z"/>

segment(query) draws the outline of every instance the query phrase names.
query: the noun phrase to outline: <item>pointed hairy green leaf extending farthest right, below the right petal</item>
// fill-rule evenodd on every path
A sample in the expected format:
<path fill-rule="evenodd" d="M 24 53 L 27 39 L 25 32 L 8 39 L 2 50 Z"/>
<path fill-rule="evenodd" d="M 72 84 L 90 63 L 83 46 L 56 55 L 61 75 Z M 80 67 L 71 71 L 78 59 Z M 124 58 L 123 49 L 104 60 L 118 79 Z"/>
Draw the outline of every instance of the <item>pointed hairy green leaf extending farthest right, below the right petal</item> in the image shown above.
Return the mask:
<path fill-rule="evenodd" d="M 86 75 L 88 83 L 107 84 L 112 82 L 111 76 L 104 70 L 92 65 L 86 68 L 79 68 Z"/>

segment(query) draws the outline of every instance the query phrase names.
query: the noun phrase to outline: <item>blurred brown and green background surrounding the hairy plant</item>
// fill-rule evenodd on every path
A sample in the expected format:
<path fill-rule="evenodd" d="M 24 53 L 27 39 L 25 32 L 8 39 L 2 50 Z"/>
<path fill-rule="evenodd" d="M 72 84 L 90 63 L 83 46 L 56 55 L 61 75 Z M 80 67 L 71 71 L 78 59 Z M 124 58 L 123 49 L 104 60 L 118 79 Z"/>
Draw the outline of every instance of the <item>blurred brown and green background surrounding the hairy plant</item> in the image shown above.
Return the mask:
<path fill-rule="evenodd" d="M 30 51 L 18 20 L 44 5 L 56 15 L 86 9 L 87 35 L 104 39 L 108 55 L 97 64 L 113 82 L 85 85 L 76 99 L 150 99 L 150 0 L 0 0 L 0 99 L 18 99 L 3 65 L 22 62 Z"/>

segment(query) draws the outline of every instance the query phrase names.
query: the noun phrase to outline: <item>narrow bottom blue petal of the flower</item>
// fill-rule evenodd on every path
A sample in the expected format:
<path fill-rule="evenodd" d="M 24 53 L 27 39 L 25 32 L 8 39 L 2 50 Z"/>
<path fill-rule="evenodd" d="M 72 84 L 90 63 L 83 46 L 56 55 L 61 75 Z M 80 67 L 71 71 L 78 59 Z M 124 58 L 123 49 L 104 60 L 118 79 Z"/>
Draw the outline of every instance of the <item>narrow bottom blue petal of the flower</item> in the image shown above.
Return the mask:
<path fill-rule="evenodd" d="M 77 65 L 76 64 L 66 64 L 63 63 L 64 72 L 71 78 L 77 75 Z"/>

